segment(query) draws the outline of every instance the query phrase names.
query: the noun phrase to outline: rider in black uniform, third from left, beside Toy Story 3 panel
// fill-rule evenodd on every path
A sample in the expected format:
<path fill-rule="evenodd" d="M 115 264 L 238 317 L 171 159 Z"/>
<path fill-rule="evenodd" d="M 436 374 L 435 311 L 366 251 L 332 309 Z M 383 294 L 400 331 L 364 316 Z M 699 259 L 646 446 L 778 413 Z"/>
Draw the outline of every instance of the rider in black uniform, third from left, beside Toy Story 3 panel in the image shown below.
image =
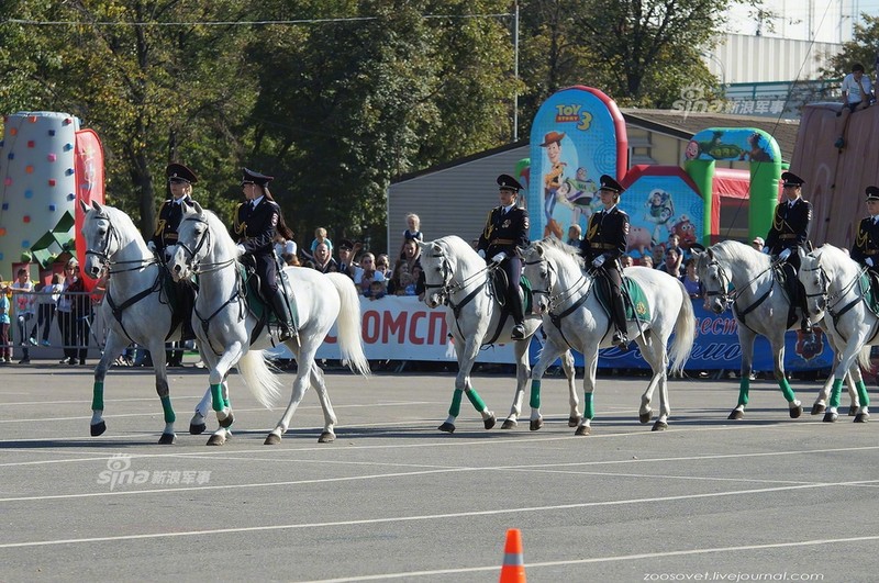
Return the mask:
<path fill-rule="evenodd" d="M 501 205 L 488 213 L 476 248 L 479 257 L 499 264 L 507 273 L 507 305 L 514 322 L 511 337 L 521 340 L 525 337 L 525 314 L 519 294 L 522 259 L 516 250 L 528 246 L 528 213 L 515 205 L 515 198 L 523 188 L 515 178 L 501 175 L 498 177 L 498 187 Z"/>

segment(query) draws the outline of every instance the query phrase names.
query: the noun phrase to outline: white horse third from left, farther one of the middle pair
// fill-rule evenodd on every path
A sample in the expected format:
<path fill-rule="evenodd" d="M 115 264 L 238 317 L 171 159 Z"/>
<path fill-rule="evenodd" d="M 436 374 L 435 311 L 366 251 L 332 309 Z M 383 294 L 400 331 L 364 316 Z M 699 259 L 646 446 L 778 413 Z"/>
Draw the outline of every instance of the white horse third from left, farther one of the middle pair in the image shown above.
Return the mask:
<path fill-rule="evenodd" d="M 519 424 L 522 412 L 522 401 L 525 395 L 531 367 L 528 365 L 528 345 L 532 335 L 539 328 L 541 321 L 536 317 L 525 318 L 525 338 L 512 340 L 512 316 L 503 316 L 502 306 L 492 294 L 489 278 L 492 267 L 486 267 L 486 261 L 460 237 L 449 235 L 436 240 L 419 243 L 421 247 L 421 267 L 424 272 L 425 293 L 424 303 L 430 307 L 441 304 L 447 306 L 446 323 L 455 341 L 455 352 L 458 357 L 458 374 L 455 378 L 455 392 L 452 396 L 452 406 L 448 417 L 439 426 L 441 431 L 455 431 L 455 419 L 460 413 L 461 396 L 465 394 L 482 416 L 486 429 L 494 427 L 497 418 L 489 411 L 470 380 L 476 357 L 483 346 L 494 343 L 513 343 L 516 365 L 516 386 L 510 415 L 501 428 L 511 429 Z M 503 294 L 498 290 L 498 294 Z M 568 393 L 570 415 L 568 425 L 576 427 L 581 415 L 577 407 L 577 388 L 574 384 L 574 357 L 566 352 L 561 359 L 561 367 L 568 378 Z"/>

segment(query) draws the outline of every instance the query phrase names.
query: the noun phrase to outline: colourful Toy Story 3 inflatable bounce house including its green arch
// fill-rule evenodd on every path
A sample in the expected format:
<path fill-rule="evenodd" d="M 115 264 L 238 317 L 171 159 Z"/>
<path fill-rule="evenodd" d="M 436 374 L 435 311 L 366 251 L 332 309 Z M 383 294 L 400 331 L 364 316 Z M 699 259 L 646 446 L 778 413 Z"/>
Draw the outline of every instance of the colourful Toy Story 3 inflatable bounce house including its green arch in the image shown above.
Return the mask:
<path fill-rule="evenodd" d="M 688 144 L 683 167 L 627 168 L 625 121 L 616 103 L 598 89 L 571 87 L 544 102 L 532 125 L 531 158 L 516 172 L 528 188 L 532 240 L 568 228 L 585 233 L 601 209 L 596 197 L 601 175 L 626 188 L 620 206 L 630 215 L 628 251 L 636 262 L 663 257 L 670 235 L 685 249 L 720 236 L 723 198 L 749 198 L 749 236 L 766 235 L 778 201 L 781 156 L 769 134 L 753 128 L 711 127 Z M 747 162 L 748 170 L 720 168 L 717 161 Z"/>

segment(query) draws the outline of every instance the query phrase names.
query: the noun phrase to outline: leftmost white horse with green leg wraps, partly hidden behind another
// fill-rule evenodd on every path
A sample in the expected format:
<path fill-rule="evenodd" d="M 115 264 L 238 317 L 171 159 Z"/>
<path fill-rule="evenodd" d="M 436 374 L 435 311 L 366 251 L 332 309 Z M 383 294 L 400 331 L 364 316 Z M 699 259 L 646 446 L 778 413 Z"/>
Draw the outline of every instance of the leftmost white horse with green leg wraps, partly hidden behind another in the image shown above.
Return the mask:
<path fill-rule="evenodd" d="M 81 229 L 87 248 L 84 273 L 97 278 L 107 269 L 111 278 L 100 306 L 104 322 L 109 323 L 109 334 L 101 360 L 94 368 L 91 435 L 107 430 L 103 421 L 107 371 L 125 347 L 136 343 L 148 348 L 153 357 L 156 392 L 165 414 L 165 429 L 158 442 L 174 444 L 176 415 L 165 370 L 165 343 L 179 339 L 182 326 L 171 329 L 171 305 L 163 290 L 165 268 L 149 251 L 129 215 L 97 202 L 92 202 L 91 208 L 81 200 L 79 203 L 86 215 Z M 200 434 L 203 430 L 204 424 L 193 418 L 189 431 Z"/>

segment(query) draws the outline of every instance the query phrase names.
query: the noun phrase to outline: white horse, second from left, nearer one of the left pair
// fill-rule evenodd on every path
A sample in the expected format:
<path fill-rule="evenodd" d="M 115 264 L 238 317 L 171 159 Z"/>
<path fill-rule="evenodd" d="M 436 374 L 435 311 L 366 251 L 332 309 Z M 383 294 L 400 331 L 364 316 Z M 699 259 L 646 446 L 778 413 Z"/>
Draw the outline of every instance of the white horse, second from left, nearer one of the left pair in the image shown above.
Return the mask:
<path fill-rule="evenodd" d="M 232 367 L 238 365 L 245 382 L 266 406 L 271 405 L 280 386 L 262 352 L 262 349 L 276 344 L 275 338 L 268 324 L 247 304 L 244 296 L 246 283 L 237 257 L 235 243 L 215 214 L 203 210 L 199 203 L 185 210 L 178 227 L 177 248 L 168 268 L 175 278 L 187 279 L 192 274 L 199 278 L 192 327 L 210 367 L 212 406 L 221 422 L 209 445 L 222 445 L 229 436 L 222 423 L 231 414 L 224 381 Z M 337 323 L 343 359 L 348 361 L 353 371 L 364 377 L 369 374 L 369 362 L 360 338 L 357 289 L 342 273 L 323 274 L 307 268 L 287 268 L 278 273 L 278 280 L 299 316 L 298 336 L 285 343 L 296 356 L 298 370 L 290 403 L 265 444 L 280 444 L 309 384 L 318 391 L 323 407 L 324 427 L 319 442 L 333 441 L 336 415 L 314 355 L 333 324 Z"/>

